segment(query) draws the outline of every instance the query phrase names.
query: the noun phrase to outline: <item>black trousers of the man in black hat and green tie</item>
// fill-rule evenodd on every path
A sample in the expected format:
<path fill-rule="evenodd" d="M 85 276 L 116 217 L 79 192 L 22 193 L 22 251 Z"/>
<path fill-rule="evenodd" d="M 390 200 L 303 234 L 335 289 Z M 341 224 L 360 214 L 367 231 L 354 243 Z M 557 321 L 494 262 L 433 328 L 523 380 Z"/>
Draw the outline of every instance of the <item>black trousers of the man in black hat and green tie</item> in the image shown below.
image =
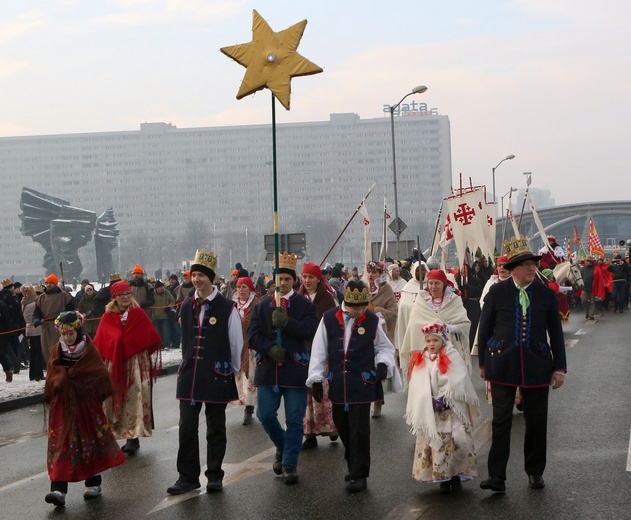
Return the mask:
<path fill-rule="evenodd" d="M 491 384 L 493 398 L 493 439 L 489 451 L 490 477 L 506 480 L 510 455 L 510 433 L 517 387 Z M 524 469 L 528 475 L 543 475 L 546 468 L 549 387 L 521 388 L 526 434 Z"/>

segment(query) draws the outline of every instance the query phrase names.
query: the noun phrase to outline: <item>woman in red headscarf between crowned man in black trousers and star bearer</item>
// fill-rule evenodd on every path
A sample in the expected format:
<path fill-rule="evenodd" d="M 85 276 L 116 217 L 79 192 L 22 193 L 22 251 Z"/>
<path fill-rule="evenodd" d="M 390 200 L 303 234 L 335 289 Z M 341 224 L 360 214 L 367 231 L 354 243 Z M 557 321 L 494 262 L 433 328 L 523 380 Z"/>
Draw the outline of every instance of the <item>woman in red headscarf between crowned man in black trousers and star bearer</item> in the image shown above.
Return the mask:
<path fill-rule="evenodd" d="M 254 351 L 250 350 L 248 338 L 245 331 L 252 317 L 252 309 L 259 302 L 256 294 L 254 282 L 249 276 L 237 278 L 234 301 L 237 304 L 237 311 L 241 318 L 241 328 L 243 329 L 243 349 L 241 350 L 241 370 L 237 374 L 236 383 L 239 390 L 239 404 L 245 405 L 243 412 L 243 426 L 252 424 L 254 407 L 256 406 L 256 387 L 254 386 Z M 251 376 L 251 377 L 250 377 Z"/>

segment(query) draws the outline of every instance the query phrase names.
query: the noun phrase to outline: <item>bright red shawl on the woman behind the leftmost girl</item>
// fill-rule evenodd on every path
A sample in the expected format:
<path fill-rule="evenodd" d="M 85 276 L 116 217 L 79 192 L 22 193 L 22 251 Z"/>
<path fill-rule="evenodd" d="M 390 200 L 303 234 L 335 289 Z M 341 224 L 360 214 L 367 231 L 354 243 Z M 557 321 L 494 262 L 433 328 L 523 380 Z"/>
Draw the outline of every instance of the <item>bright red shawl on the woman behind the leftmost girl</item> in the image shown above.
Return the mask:
<path fill-rule="evenodd" d="M 140 352 L 147 351 L 151 355 L 160 350 L 162 339 L 147 313 L 137 308 L 129 309 L 125 328 L 120 314 L 106 312 L 99 323 L 94 344 L 101 357 L 111 361 L 112 383 L 116 390 L 115 402 L 120 404 L 131 383 L 129 371 L 125 367 L 127 360 Z M 158 362 L 152 364 L 152 378 L 157 376 L 158 365 Z"/>

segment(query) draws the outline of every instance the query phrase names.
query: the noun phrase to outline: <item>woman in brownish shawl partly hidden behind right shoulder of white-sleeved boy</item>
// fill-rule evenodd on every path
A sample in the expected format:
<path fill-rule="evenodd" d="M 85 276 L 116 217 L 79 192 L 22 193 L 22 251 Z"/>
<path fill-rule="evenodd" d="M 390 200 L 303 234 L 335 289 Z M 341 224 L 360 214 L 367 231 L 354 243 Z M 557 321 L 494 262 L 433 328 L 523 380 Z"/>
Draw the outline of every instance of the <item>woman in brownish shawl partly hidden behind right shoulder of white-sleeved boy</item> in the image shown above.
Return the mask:
<path fill-rule="evenodd" d="M 384 332 L 390 340 L 390 343 L 398 348 L 395 340 L 395 330 L 397 326 L 397 315 L 399 307 L 394 297 L 392 287 L 387 283 L 387 277 L 384 276 L 383 264 L 381 262 L 368 262 L 364 276 L 368 281 L 368 289 L 370 291 L 370 304 L 368 309 L 373 311 L 382 319 L 381 325 L 384 326 Z M 398 363 L 397 363 L 398 364 Z M 377 383 L 377 400 L 372 406 L 372 417 L 381 416 L 381 407 L 383 400 L 383 385 L 381 381 Z"/>

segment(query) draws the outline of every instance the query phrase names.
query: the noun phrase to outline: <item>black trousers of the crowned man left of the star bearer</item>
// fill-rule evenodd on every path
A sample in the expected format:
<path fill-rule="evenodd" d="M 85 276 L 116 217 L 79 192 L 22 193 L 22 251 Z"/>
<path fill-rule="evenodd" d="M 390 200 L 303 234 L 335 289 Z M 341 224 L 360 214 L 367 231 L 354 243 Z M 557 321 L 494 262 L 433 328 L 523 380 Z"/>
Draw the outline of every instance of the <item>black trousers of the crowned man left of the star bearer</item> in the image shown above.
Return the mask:
<path fill-rule="evenodd" d="M 199 412 L 206 405 L 206 477 L 223 479 L 221 464 L 226 454 L 226 404 L 180 401 L 180 446 L 177 452 L 177 471 L 180 480 L 199 482 Z"/>

